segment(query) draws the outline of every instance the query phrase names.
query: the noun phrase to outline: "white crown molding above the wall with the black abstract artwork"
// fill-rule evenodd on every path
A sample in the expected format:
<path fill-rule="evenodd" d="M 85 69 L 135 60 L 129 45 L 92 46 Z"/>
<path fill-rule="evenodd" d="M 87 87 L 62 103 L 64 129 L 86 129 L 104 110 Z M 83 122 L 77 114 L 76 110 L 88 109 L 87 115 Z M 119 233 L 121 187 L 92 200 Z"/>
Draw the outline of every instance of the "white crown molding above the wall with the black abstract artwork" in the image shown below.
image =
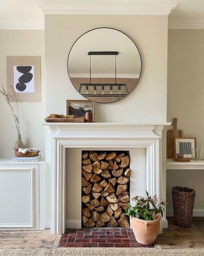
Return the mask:
<path fill-rule="evenodd" d="M 42 21 L 0 21 L 0 29 L 44 30 L 44 19 Z"/>

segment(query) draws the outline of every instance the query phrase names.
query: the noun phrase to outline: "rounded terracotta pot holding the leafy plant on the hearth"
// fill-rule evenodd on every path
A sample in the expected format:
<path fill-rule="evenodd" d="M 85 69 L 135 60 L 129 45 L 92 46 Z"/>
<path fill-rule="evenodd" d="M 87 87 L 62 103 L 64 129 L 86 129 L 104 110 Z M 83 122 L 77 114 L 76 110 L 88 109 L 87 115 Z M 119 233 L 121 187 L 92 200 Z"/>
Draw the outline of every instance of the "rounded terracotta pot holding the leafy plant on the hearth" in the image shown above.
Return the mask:
<path fill-rule="evenodd" d="M 132 218 L 132 227 L 135 238 L 138 243 L 152 244 L 159 233 L 160 229 L 160 215 L 155 216 L 154 221 L 145 221 L 138 218 Z"/>

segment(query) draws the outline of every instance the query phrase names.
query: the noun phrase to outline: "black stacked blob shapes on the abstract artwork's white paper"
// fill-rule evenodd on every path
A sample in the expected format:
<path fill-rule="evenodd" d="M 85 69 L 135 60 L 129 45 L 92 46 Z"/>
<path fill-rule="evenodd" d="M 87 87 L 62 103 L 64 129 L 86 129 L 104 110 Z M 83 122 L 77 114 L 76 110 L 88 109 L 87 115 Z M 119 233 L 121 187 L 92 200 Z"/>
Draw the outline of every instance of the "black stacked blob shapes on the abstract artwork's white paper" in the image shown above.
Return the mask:
<path fill-rule="evenodd" d="M 29 73 L 31 71 L 32 67 L 31 66 L 18 66 L 16 69 L 22 73 L 23 75 L 19 77 L 19 83 L 16 83 L 15 87 L 17 90 L 20 92 L 23 92 L 26 89 L 26 83 L 29 83 L 32 78 L 33 74 Z"/>

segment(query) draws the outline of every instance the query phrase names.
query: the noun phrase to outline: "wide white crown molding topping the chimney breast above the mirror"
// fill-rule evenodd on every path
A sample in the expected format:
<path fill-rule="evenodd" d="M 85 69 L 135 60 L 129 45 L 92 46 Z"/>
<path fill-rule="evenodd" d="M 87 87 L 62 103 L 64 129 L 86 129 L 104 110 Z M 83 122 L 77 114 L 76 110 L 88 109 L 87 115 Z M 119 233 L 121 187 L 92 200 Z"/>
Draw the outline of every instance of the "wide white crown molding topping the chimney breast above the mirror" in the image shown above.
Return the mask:
<path fill-rule="evenodd" d="M 158 1 L 157 1 L 158 2 Z M 70 14 L 70 15 L 169 15 L 177 3 L 155 3 L 149 0 L 146 3 L 139 1 L 124 1 L 124 3 L 45 3 L 36 5 L 43 14 Z"/>

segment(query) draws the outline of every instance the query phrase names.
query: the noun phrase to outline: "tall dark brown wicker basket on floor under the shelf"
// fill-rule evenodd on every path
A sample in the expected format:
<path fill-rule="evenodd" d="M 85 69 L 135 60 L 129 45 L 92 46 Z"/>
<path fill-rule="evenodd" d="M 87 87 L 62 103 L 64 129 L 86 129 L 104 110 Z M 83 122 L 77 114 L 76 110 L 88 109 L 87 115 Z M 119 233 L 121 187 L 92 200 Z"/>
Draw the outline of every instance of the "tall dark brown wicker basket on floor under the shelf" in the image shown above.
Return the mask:
<path fill-rule="evenodd" d="M 182 187 L 172 188 L 174 224 L 189 227 L 192 223 L 195 190 Z"/>

